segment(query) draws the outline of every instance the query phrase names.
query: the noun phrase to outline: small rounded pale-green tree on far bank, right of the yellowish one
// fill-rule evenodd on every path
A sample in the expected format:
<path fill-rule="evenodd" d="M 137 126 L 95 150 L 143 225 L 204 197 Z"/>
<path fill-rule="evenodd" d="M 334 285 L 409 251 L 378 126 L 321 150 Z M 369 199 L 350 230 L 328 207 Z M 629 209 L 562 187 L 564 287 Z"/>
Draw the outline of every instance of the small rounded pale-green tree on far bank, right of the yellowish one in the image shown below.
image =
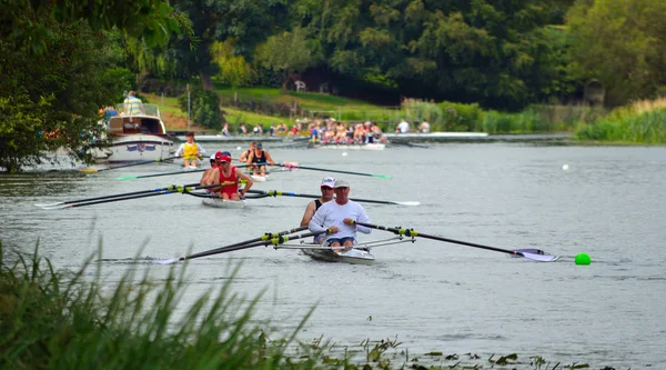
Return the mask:
<path fill-rule="evenodd" d="M 282 73 L 282 89 L 287 89 L 290 80 L 295 80 L 295 73 L 311 67 L 313 58 L 305 39 L 305 31 L 296 28 L 291 32 L 272 36 L 259 46 L 256 62 Z"/>

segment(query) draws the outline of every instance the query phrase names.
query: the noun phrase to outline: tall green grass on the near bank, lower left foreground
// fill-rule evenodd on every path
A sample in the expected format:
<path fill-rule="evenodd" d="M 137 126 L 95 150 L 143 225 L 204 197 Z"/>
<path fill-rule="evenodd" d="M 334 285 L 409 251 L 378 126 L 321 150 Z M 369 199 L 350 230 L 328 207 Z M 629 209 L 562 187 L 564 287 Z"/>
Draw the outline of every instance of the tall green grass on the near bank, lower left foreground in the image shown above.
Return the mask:
<path fill-rule="evenodd" d="M 3 253 L 0 243 L 3 369 L 310 369 L 321 356 L 306 346 L 302 358 L 285 356 L 295 332 L 268 340 L 251 320 L 259 297 L 242 303 L 231 293 L 233 279 L 176 318 L 185 268 L 155 283 L 148 272 L 137 277 L 134 266 L 107 292 L 100 268 L 94 281 L 84 281 L 90 260 L 70 273 L 56 271 L 37 250 L 11 263 Z"/>

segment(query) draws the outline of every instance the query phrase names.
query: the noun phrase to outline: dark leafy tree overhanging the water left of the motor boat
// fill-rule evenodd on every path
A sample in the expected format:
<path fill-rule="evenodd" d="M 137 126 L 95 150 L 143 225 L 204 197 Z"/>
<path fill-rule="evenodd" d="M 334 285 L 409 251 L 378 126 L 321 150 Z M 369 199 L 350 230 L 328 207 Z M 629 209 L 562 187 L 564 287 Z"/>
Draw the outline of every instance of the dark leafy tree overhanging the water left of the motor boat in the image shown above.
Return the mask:
<path fill-rule="evenodd" d="M 78 156 L 100 137 L 98 110 L 117 102 L 128 83 L 114 32 L 159 44 L 186 23 L 161 0 L 128 8 L 113 0 L 1 3 L 0 167 L 7 171 L 38 163 L 58 148 Z"/>

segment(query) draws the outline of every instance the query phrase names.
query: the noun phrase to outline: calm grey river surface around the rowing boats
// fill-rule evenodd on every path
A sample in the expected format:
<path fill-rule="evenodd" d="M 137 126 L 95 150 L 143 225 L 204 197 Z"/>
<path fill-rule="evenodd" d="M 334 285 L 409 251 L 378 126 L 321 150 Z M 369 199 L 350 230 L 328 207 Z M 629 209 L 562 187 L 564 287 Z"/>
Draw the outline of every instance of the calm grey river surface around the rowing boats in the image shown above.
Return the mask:
<path fill-rule="evenodd" d="M 209 151 L 233 149 L 205 144 Z M 243 146 L 244 147 L 244 146 Z M 397 338 L 410 353 L 442 351 L 542 356 L 552 366 L 666 369 L 666 148 L 451 143 L 384 151 L 270 149 L 279 161 L 391 179 L 336 176 L 351 197 L 420 201 L 365 204 L 373 223 L 505 249 L 539 248 L 557 262 L 427 239 L 379 247 L 374 266 L 317 262 L 296 250 L 253 248 L 195 259 L 183 304 L 223 283 L 226 262 L 242 262 L 233 287 L 266 290 L 258 318 L 289 330 L 316 309 L 300 338 L 340 344 Z M 568 169 L 564 170 L 563 166 Z M 117 181 L 172 171 L 147 164 L 89 176 L 0 176 L 0 238 L 6 249 L 41 252 L 78 269 L 103 244 L 105 283 L 141 257 L 173 258 L 297 226 L 309 199 L 249 200 L 213 209 L 168 194 L 60 211 L 34 203 L 196 182 L 200 174 Z M 326 172 L 275 173 L 255 189 L 317 193 Z M 373 231 L 364 240 L 389 238 Z M 141 250 L 142 249 L 142 250 Z M 591 266 L 576 266 L 586 252 Z M 487 362 L 485 362 L 487 364 Z"/>

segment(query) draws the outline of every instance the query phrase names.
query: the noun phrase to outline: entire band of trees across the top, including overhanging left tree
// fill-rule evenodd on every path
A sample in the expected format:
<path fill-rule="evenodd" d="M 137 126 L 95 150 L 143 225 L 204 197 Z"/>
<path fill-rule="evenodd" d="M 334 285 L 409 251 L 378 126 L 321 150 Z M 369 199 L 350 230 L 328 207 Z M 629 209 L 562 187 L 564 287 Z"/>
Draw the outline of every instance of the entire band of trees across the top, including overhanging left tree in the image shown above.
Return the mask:
<path fill-rule="evenodd" d="M 78 148 L 137 76 L 519 110 L 665 93 L 653 0 L 0 0 L 0 167 Z M 311 82 L 311 83 L 310 83 Z M 369 99 L 371 100 L 371 99 Z"/>

